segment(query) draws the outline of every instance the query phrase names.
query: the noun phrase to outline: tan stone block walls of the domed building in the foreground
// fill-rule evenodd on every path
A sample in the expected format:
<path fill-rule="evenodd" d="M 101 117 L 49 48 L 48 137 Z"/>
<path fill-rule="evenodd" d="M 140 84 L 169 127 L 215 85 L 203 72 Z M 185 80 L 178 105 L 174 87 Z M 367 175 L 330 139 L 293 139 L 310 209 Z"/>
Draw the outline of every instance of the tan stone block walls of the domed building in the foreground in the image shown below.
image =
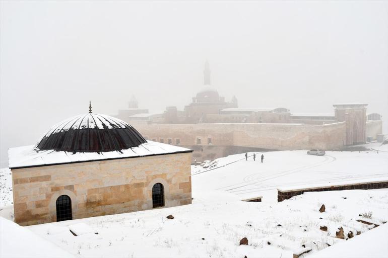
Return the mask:
<path fill-rule="evenodd" d="M 15 222 L 56 221 L 56 199 L 68 195 L 73 219 L 152 209 L 152 187 L 165 207 L 191 203 L 191 153 L 12 169 Z"/>

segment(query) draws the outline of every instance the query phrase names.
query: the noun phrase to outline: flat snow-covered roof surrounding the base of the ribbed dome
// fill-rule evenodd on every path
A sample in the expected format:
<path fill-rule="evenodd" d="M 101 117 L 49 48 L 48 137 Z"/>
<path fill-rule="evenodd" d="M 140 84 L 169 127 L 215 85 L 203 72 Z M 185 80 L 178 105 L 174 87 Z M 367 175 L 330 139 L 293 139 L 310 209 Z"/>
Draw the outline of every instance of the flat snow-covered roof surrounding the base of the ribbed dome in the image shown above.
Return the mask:
<path fill-rule="evenodd" d="M 67 164 L 73 162 L 87 162 L 118 158 L 134 158 L 172 153 L 192 152 L 190 149 L 147 141 L 137 147 L 108 152 L 68 152 L 42 150 L 36 151 L 32 145 L 10 148 L 8 150 L 10 168 Z"/>

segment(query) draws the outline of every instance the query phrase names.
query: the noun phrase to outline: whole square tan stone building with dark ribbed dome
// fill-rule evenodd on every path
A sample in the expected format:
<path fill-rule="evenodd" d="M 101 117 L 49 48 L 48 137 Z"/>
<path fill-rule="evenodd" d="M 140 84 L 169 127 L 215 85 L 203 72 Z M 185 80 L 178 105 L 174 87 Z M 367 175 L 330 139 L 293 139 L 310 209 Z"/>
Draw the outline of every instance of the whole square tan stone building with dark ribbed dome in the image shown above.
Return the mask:
<path fill-rule="evenodd" d="M 20 225 L 191 203 L 192 150 L 147 141 L 125 122 L 89 113 L 11 148 Z"/>

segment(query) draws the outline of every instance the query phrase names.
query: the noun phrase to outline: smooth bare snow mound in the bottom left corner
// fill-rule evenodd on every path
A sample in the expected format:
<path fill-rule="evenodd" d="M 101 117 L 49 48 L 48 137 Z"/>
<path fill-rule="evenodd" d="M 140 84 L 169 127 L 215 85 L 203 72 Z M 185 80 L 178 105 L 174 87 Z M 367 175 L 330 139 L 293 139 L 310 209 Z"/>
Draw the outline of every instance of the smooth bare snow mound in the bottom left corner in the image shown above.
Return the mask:
<path fill-rule="evenodd" d="M 0 217 L 0 257 L 75 257 L 26 227 Z"/>

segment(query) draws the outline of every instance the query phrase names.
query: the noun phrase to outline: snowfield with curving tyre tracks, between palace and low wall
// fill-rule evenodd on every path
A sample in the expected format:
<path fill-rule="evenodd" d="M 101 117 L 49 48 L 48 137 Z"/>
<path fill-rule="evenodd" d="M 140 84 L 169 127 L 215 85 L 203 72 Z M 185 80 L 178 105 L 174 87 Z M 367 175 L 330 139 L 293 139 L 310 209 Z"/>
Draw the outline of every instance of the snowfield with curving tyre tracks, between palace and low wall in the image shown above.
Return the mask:
<path fill-rule="evenodd" d="M 264 152 L 263 152 L 264 153 Z M 326 151 L 324 156 L 306 150 L 273 151 L 230 155 L 216 159 L 212 170 L 192 166 L 192 191 L 225 191 L 240 200 L 263 196 L 277 201 L 277 189 L 300 189 L 328 185 L 388 180 L 388 153 L 376 151 Z"/>

